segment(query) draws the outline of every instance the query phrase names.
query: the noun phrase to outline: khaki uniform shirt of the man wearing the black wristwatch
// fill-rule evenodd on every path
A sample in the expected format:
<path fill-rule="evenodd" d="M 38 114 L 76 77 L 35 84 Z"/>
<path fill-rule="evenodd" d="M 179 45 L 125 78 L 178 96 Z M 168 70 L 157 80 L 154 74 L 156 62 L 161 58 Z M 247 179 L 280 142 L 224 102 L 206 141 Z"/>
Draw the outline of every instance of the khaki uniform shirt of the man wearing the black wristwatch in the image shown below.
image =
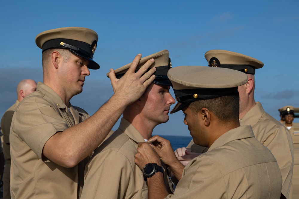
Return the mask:
<path fill-rule="evenodd" d="M 280 169 L 251 127 L 220 136 L 183 170 L 174 195 L 166 198 L 280 198 Z"/>

